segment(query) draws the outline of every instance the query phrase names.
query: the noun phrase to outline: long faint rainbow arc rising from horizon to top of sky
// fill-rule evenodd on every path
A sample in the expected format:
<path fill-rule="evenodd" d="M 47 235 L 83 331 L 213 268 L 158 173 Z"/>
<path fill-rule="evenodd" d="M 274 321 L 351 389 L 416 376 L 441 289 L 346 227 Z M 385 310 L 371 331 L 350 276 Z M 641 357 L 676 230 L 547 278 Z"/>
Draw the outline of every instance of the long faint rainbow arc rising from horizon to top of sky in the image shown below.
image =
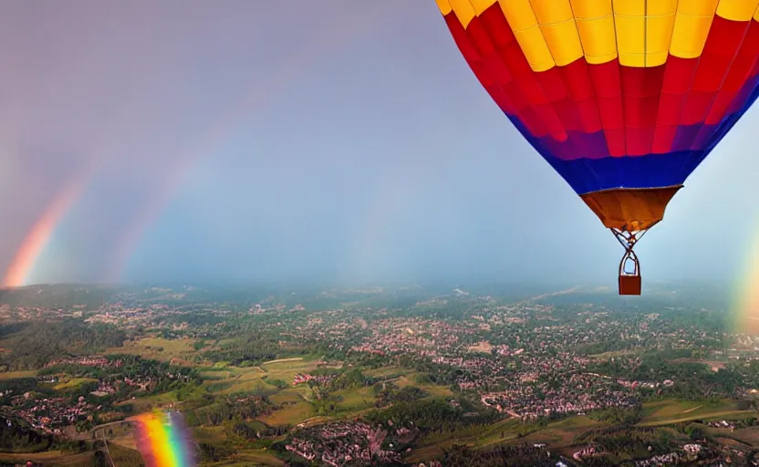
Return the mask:
<path fill-rule="evenodd" d="M 191 150 L 186 158 L 182 159 L 174 171 L 170 172 L 170 177 L 167 182 L 155 192 L 155 196 L 152 198 L 152 202 L 145 206 L 135 222 L 130 224 L 124 235 L 121 236 L 120 241 L 115 247 L 115 254 L 110 263 L 106 276 L 108 282 L 116 283 L 120 282 L 124 272 L 130 261 L 132 252 L 140 244 L 140 241 L 144 233 L 155 223 L 166 205 L 171 202 L 174 194 L 182 185 L 184 178 L 188 173 L 192 172 L 197 166 L 199 166 L 205 157 L 213 151 L 220 142 L 229 137 L 234 130 L 242 125 L 244 119 L 247 118 L 255 109 L 260 109 L 265 106 L 266 100 L 271 99 L 276 93 L 272 92 L 272 89 L 281 90 L 285 84 L 294 80 L 298 73 L 301 72 L 305 65 L 311 65 L 317 61 L 317 58 L 323 57 L 315 53 L 315 51 L 322 50 L 325 46 L 334 44 L 340 44 L 345 41 L 348 36 L 354 35 L 356 32 L 362 30 L 364 26 L 372 24 L 377 20 L 377 14 L 380 13 L 386 4 L 373 4 L 374 7 L 364 10 L 366 15 L 361 16 L 361 21 L 355 19 L 351 21 L 348 19 L 347 24 L 350 25 L 344 29 L 331 29 L 330 34 L 319 36 L 320 40 L 314 40 L 308 43 L 309 47 L 305 47 L 300 50 L 299 54 L 295 57 L 291 57 L 287 60 L 284 67 L 277 69 L 276 73 L 273 73 L 268 78 L 266 86 L 257 86 L 251 88 L 245 93 L 244 98 L 241 100 L 241 104 L 234 106 L 221 120 L 221 123 L 213 125 L 212 129 L 206 133 L 206 137 L 201 142 L 195 145 L 195 149 Z"/>

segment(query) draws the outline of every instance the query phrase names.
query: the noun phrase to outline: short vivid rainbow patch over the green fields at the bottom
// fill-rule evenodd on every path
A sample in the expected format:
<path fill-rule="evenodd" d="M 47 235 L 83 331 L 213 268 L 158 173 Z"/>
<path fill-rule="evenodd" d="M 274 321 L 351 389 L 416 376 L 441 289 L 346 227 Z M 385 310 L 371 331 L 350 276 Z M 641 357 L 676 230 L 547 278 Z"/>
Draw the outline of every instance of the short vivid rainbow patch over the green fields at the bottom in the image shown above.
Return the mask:
<path fill-rule="evenodd" d="M 182 414 L 145 413 L 135 420 L 137 448 L 146 467 L 192 467 L 194 441 Z"/>

